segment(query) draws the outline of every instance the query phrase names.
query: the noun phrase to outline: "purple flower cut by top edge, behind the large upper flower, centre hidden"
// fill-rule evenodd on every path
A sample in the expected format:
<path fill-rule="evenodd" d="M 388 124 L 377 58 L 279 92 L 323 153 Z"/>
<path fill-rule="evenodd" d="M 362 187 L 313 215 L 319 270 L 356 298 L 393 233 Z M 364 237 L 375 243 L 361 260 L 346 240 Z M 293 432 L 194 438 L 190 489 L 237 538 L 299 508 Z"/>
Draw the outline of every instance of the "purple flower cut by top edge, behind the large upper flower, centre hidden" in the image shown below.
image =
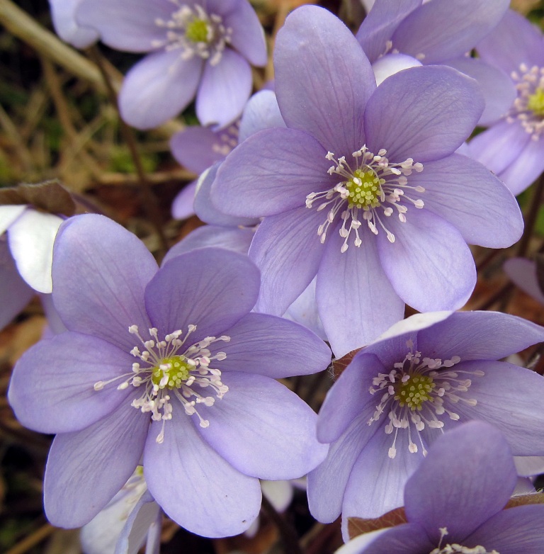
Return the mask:
<path fill-rule="evenodd" d="M 467 54 L 506 12 L 508 0 L 376 0 L 357 38 L 378 84 L 414 65 L 446 64 L 477 79 L 485 96 L 480 125 L 497 120 L 514 100 L 507 75 Z"/>

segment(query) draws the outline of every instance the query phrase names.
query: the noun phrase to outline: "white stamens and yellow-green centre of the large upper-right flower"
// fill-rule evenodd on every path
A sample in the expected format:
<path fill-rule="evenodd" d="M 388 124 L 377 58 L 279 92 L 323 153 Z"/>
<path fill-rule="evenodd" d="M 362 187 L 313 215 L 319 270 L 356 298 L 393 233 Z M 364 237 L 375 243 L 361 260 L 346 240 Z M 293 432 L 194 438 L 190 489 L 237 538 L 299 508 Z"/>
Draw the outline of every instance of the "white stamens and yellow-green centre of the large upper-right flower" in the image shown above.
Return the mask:
<path fill-rule="evenodd" d="M 386 157 L 387 150 L 381 149 L 378 154 L 368 152 L 365 145 L 353 152 L 352 165 L 346 162 L 346 157 L 339 159 L 332 152 L 327 153 L 327 159 L 334 162 L 328 169 L 329 175 L 336 174 L 343 178 L 328 191 L 310 193 L 306 197 L 306 208 L 312 208 L 316 200 L 324 200 L 317 206 L 317 211 L 328 208 L 327 219 L 317 227 L 317 234 L 324 243 L 329 226 L 339 219 L 342 225 L 339 234 L 344 238 L 340 251 L 348 249 L 348 239 L 353 232 L 353 244 L 360 247 L 363 244 L 359 234 L 361 218 L 366 221 L 373 234 L 378 234 L 381 228 L 390 242 L 395 242 L 395 235 L 385 227 L 380 215 L 390 217 L 395 210 L 401 222 L 406 222 L 407 203 L 416 208 L 423 208 L 423 200 L 408 196 L 405 191 L 412 189 L 418 193 L 425 192 L 422 186 L 409 186 L 407 176 L 412 171 L 423 171 L 423 164 L 414 163 L 412 158 L 401 164 L 395 164 Z"/>

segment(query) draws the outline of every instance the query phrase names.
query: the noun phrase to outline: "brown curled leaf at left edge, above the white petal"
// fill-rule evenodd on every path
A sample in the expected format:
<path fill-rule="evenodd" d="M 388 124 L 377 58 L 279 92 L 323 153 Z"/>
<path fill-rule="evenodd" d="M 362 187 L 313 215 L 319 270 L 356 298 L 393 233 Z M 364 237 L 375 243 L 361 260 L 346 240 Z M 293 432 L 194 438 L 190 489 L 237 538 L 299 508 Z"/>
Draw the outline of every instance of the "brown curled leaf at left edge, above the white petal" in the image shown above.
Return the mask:
<path fill-rule="evenodd" d="M 34 185 L 0 188 L 0 205 L 30 204 L 48 213 L 74 215 L 72 195 L 56 179 Z"/>

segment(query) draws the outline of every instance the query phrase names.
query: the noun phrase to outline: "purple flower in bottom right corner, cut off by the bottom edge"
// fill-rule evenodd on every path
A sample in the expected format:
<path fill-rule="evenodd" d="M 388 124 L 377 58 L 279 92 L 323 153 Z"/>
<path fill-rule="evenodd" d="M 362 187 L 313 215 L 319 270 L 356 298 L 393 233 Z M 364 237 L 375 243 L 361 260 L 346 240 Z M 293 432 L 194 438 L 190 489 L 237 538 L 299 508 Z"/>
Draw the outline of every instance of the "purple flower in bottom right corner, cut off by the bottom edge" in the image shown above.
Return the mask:
<path fill-rule="evenodd" d="M 360 535 L 337 554 L 541 554 L 544 506 L 503 509 L 515 485 L 504 437 L 467 423 L 438 439 L 406 483 L 408 523 Z"/>

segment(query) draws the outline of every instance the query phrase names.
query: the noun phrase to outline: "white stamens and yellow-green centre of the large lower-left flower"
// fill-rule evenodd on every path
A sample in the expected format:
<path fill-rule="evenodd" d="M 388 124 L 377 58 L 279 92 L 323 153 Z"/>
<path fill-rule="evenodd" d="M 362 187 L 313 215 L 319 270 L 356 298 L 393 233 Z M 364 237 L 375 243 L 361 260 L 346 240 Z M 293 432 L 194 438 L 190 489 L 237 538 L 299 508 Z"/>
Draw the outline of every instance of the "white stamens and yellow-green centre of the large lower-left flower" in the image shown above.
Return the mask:
<path fill-rule="evenodd" d="M 102 390 L 109 383 L 121 378 L 125 380 L 118 385 L 118 390 L 125 390 L 130 385 L 142 387 L 142 395 L 132 400 L 131 405 L 142 412 L 151 412 L 151 419 L 154 421 L 163 422 L 162 430 L 157 436 L 158 443 L 164 440 L 164 422 L 172 419 L 170 393 L 181 402 L 187 415 L 196 415 L 200 419 L 200 426 L 208 427 L 210 422 L 200 416 L 196 405 L 212 406 L 215 398 L 200 395 L 196 387 L 212 390 L 219 399 L 229 390 L 227 385 L 221 382 L 221 371 L 210 368 L 212 360 L 224 360 L 227 354 L 216 352 L 212 355 L 208 346 L 217 341 L 228 342 L 230 337 L 206 337 L 186 348 L 183 354 L 178 354 L 189 335 L 196 330 L 196 325 L 188 326 L 183 339 L 180 339 L 183 332 L 177 330 L 167 334 L 162 341 L 159 341 L 155 328 L 149 329 L 152 338 L 147 341 L 142 339 L 136 325 L 131 325 L 128 330 L 145 346 L 144 351 L 140 351 L 137 346 L 130 351 L 132 356 L 140 358 L 143 367 L 140 363 L 133 363 L 131 373 L 125 373 L 106 382 L 98 381 L 94 384 L 94 390 Z"/>

